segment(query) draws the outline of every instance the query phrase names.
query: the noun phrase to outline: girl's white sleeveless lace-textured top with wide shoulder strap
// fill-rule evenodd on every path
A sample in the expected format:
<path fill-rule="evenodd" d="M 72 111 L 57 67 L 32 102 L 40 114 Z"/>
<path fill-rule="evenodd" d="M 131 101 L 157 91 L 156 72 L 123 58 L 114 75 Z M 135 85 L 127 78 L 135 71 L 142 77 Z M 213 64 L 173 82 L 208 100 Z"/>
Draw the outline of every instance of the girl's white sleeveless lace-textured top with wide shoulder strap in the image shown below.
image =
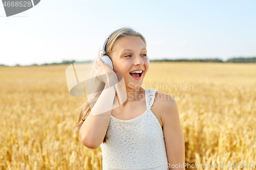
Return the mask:
<path fill-rule="evenodd" d="M 111 115 L 106 131 L 109 139 L 100 144 L 102 170 L 168 169 L 163 130 L 151 111 L 156 92 L 145 89 L 147 109 L 139 117 L 121 120 Z"/>

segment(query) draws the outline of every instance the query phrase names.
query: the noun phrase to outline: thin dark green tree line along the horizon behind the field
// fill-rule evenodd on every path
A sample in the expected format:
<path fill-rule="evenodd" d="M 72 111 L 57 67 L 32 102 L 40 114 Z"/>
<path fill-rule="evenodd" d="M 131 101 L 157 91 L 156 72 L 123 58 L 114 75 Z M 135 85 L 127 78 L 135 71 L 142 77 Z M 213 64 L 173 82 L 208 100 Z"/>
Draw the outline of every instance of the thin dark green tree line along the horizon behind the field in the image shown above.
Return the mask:
<path fill-rule="evenodd" d="M 215 59 L 160 59 L 160 60 L 150 60 L 151 62 L 226 62 L 226 63 L 255 63 L 256 62 L 256 57 L 251 57 L 251 58 L 244 58 L 244 57 L 239 57 L 239 58 L 230 58 L 227 61 L 223 61 L 221 59 L 215 58 Z M 60 63 L 45 63 L 45 64 L 31 64 L 27 66 L 36 66 L 36 65 L 57 65 L 57 64 L 73 64 L 74 62 L 76 63 L 90 63 L 91 60 L 86 60 L 86 61 L 75 61 L 75 60 L 63 60 Z M 4 64 L 0 64 L 0 66 L 8 66 Z M 16 64 L 15 66 L 20 66 L 19 64 Z"/>

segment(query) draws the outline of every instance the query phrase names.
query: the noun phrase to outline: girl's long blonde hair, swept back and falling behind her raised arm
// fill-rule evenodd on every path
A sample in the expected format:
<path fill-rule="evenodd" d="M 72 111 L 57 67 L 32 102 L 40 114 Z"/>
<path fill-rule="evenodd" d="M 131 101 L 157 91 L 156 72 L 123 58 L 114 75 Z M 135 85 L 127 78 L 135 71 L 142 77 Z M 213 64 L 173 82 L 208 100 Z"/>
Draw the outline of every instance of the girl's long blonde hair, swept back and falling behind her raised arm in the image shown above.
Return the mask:
<path fill-rule="evenodd" d="M 139 37 L 142 39 L 142 41 L 145 43 L 145 46 L 146 46 L 146 40 L 145 38 L 139 33 L 139 32 L 136 32 L 134 29 L 130 28 L 130 27 L 123 27 L 123 28 L 120 28 L 118 30 L 116 30 L 115 32 L 113 32 L 113 34 L 111 35 L 111 37 L 109 38 L 108 42 L 106 43 L 106 46 L 105 46 L 105 55 L 109 56 L 112 60 L 112 53 L 113 53 L 113 48 L 115 46 L 115 44 L 117 43 L 117 41 L 123 37 L 127 37 L 127 36 L 132 36 L 132 37 Z M 98 51 L 98 54 L 97 56 L 99 55 L 99 52 L 100 52 L 100 49 Z M 97 75 L 95 74 L 93 68 L 92 68 L 92 65 L 96 62 L 96 59 L 90 63 L 89 65 L 89 76 L 92 77 L 92 81 L 90 83 L 90 88 L 92 89 L 92 91 L 102 91 L 104 89 L 104 86 L 105 84 L 100 81 L 98 78 L 97 78 Z M 78 118 L 78 125 L 76 126 L 75 130 L 74 130 L 74 133 L 80 131 L 80 128 L 84 122 L 84 120 L 87 118 L 87 116 L 90 114 L 91 112 L 91 107 L 93 107 L 96 103 L 96 101 L 98 100 L 99 96 L 100 96 L 101 93 L 95 93 L 94 94 L 94 97 L 91 99 L 90 98 L 90 104 L 89 104 L 89 101 L 87 100 L 80 108 L 80 114 L 79 114 L 79 118 Z M 104 139 L 103 139 L 103 143 L 109 139 L 108 136 L 105 135 Z"/>

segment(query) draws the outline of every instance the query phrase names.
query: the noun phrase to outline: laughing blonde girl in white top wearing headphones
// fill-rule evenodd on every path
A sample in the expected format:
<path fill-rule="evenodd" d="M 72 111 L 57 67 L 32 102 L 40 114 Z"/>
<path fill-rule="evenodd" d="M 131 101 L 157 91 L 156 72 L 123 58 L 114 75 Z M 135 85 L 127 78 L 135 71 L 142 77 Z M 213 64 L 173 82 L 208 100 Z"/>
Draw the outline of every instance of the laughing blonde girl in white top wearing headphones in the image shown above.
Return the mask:
<path fill-rule="evenodd" d="M 92 87 L 102 92 L 81 109 L 75 132 L 82 143 L 91 149 L 101 147 L 103 170 L 185 169 L 184 138 L 175 100 L 141 87 L 150 61 L 145 38 L 131 28 L 120 28 L 109 38 L 105 52 L 114 69 L 99 56 L 92 65 L 92 74 L 97 75 Z M 119 81 L 108 77 L 115 72 L 123 76 L 127 94 L 118 107 L 113 105 L 121 89 L 110 90 L 109 84 Z M 104 74 L 106 77 L 99 77 Z M 95 115 L 101 108 L 110 111 Z"/>

